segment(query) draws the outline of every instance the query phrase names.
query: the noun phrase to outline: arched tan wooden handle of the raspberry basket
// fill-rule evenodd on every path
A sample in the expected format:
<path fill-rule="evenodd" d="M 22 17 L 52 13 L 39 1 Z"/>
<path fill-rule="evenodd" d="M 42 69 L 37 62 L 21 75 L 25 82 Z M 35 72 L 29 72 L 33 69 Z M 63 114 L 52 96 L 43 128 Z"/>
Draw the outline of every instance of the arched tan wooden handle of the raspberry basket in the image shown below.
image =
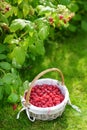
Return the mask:
<path fill-rule="evenodd" d="M 29 86 L 29 89 L 28 89 L 28 92 L 27 92 L 27 95 L 26 95 L 26 105 L 29 104 L 29 98 L 30 98 L 30 93 L 31 93 L 31 89 L 32 87 L 34 86 L 34 83 L 36 80 L 38 80 L 41 76 L 43 76 L 44 74 L 48 73 L 48 72 L 51 72 L 51 71 L 57 71 L 59 72 L 60 76 L 61 76 L 61 79 L 62 79 L 62 82 L 61 84 L 64 85 L 64 76 L 62 74 L 62 72 L 58 69 L 58 68 L 50 68 L 50 69 L 46 69 L 44 71 L 42 71 L 41 73 L 39 73 L 34 79 L 33 81 L 31 82 L 30 86 Z"/>

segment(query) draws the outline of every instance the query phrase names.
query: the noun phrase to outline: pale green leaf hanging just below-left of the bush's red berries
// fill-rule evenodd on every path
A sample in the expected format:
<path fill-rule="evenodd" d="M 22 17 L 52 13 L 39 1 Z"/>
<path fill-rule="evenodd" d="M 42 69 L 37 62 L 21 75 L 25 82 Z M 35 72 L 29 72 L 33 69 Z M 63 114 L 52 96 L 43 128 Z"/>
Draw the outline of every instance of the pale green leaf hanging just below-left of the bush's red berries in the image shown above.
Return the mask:
<path fill-rule="evenodd" d="M 49 27 L 48 26 L 43 26 L 38 33 L 40 39 L 45 40 L 47 36 L 49 35 Z"/>

